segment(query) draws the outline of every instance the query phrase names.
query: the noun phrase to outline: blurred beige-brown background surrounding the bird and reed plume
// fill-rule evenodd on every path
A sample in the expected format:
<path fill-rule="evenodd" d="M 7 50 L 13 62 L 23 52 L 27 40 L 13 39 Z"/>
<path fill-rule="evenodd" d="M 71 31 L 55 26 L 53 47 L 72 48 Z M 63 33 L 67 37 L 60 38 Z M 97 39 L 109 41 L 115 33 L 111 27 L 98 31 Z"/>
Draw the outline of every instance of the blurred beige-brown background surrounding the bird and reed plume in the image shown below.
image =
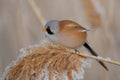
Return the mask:
<path fill-rule="evenodd" d="M 46 21 L 71 19 L 87 29 L 90 45 L 103 57 L 120 61 L 120 0 L 34 0 Z M 0 74 L 19 49 L 43 39 L 28 0 L 0 0 Z M 120 67 L 96 62 L 84 80 L 120 80 Z"/>

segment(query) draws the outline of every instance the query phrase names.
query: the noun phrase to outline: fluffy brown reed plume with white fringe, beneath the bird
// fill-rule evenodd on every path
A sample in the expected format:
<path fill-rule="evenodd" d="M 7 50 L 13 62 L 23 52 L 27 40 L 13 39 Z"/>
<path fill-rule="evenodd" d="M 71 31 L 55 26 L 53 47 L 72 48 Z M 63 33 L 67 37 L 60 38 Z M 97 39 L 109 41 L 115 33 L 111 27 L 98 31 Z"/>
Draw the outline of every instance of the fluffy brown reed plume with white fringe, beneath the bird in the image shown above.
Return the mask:
<path fill-rule="evenodd" d="M 21 55 L 2 80 L 81 80 L 85 65 L 89 65 L 75 51 L 51 43 L 22 49 Z"/>

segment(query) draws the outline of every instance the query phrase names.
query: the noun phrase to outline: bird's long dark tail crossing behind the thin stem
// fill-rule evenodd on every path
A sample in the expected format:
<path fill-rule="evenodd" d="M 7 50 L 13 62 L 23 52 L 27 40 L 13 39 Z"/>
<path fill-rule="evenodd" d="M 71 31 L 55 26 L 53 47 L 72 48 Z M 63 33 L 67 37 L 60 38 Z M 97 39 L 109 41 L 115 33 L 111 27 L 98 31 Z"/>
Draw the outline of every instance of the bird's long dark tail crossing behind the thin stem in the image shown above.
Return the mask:
<path fill-rule="evenodd" d="M 98 54 L 87 44 L 87 43 L 84 43 L 84 47 L 87 48 L 88 51 L 90 51 L 90 53 L 94 56 L 98 56 Z M 100 61 L 100 60 L 97 60 L 99 62 L 99 64 L 101 64 L 107 71 L 108 71 L 108 68 L 106 67 L 106 65 Z"/>

